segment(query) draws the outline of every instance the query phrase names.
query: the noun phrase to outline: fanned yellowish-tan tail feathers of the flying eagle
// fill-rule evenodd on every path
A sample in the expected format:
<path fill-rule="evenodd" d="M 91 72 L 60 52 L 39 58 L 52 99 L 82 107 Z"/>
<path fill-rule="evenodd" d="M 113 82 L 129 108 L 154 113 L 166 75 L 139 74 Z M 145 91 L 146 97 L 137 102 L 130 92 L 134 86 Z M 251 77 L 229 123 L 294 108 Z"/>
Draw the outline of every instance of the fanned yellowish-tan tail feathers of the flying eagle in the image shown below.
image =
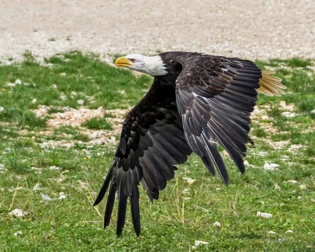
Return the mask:
<path fill-rule="evenodd" d="M 282 89 L 287 87 L 281 84 L 282 79 L 270 74 L 275 73 L 273 71 L 262 71 L 262 77 L 259 79 L 260 87 L 257 90 L 258 93 L 262 93 L 268 96 L 281 96 L 285 94 Z"/>

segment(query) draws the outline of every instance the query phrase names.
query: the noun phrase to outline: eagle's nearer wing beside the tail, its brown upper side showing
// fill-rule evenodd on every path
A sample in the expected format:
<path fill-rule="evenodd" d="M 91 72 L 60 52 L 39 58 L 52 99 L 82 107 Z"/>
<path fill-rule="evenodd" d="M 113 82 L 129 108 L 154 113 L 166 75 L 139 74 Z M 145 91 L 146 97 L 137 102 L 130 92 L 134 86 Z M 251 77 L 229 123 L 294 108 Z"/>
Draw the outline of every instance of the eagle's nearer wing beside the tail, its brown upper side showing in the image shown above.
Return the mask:
<path fill-rule="evenodd" d="M 228 185 L 229 175 L 217 143 L 243 174 L 249 115 L 256 104 L 261 70 L 248 60 L 205 54 L 179 56 L 176 61 L 182 65 L 176 80 L 176 102 L 187 143 L 210 173 L 215 175 L 215 166 Z"/>

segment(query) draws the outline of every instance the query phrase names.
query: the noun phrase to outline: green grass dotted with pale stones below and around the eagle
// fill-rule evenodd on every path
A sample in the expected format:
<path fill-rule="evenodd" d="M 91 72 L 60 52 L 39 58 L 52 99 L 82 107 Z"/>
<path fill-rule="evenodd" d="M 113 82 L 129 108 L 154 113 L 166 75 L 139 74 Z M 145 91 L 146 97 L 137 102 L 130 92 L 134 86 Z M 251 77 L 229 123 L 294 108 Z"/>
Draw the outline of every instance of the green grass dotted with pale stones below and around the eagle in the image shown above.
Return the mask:
<path fill-rule="evenodd" d="M 197 251 L 314 250 L 315 123 L 311 111 L 315 75 L 307 67 L 311 60 L 257 62 L 262 68 L 274 68 L 289 93 L 281 98 L 259 95 L 258 107 L 268 119 L 252 118 L 250 136 L 255 145 L 248 145 L 245 158 L 251 167 L 240 175 L 231 159 L 223 156 L 231 182 L 225 187 L 219 176 L 212 177 L 200 158 L 192 155 L 178 166 L 175 179 L 168 182 L 158 201 L 150 204 L 140 190 L 139 238 L 130 224 L 129 206 L 121 238 L 115 235 L 117 205 L 105 230 L 106 200 L 92 207 L 116 145 L 95 145 L 84 131 L 110 132 L 106 118 L 113 116 L 90 119 L 80 127 L 51 128 L 47 120 L 63 112 L 63 107 L 77 108 L 78 99 L 90 109 L 133 106 L 152 78 L 136 77 L 100 62 L 96 55 L 79 52 L 57 54 L 46 63 L 37 64 L 26 52 L 24 62 L 0 66 L 0 105 L 4 108 L 0 112 L 0 164 L 6 168 L 0 166 L 0 251 L 192 251 L 195 240 L 209 243 Z M 21 85 L 7 86 L 16 79 Z M 60 99 L 61 95 L 66 98 Z M 93 100 L 87 98 L 91 96 Z M 36 103 L 32 103 L 34 98 Z M 280 100 L 295 105 L 295 117 L 282 115 Z M 50 106 L 49 117 L 36 116 L 34 109 L 39 105 Z M 288 144 L 275 148 L 286 140 Z M 72 144 L 49 147 L 43 145 L 47 141 Z M 290 150 L 291 145 L 301 148 Z M 268 171 L 263 168 L 265 162 L 279 166 Z M 189 185 L 184 177 L 197 182 Z M 42 191 L 32 190 L 37 183 Z M 53 200 L 43 201 L 40 192 Z M 66 198 L 58 199 L 60 192 Z M 16 208 L 28 215 L 10 218 L 7 213 Z M 263 219 L 256 216 L 257 211 L 273 216 Z M 216 221 L 220 227 L 213 226 Z M 288 229 L 294 233 L 286 233 Z M 17 231 L 22 234 L 14 236 Z"/>

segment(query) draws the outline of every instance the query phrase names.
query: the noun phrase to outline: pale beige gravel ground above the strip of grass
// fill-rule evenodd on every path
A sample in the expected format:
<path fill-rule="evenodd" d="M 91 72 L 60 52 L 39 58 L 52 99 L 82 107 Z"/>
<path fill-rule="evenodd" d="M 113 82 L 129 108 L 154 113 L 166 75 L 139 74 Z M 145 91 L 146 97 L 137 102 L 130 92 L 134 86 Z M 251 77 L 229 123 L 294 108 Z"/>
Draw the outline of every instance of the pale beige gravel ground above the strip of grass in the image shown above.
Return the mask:
<path fill-rule="evenodd" d="M 2 59 L 70 49 L 315 58 L 314 0 L 13 0 L 0 2 L 0 17 Z"/>

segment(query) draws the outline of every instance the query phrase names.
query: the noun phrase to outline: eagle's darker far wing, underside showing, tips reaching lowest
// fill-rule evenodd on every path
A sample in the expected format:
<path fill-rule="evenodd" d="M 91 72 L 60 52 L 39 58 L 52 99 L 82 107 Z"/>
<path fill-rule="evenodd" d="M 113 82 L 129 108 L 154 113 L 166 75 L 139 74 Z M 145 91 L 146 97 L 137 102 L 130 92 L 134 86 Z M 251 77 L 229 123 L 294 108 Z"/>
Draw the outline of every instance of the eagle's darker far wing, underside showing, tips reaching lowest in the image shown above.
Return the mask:
<path fill-rule="evenodd" d="M 146 95 L 126 116 L 115 157 L 95 200 L 94 205 L 100 203 L 110 186 L 104 228 L 109 225 L 118 192 L 116 233 L 119 236 L 123 231 L 129 198 L 133 226 L 139 235 L 139 182 L 151 201 L 158 199 L 166 181 L 174 177 L 177 169 L 174 164 L 185 163 L 191 153 L 176 106 L 175 88 L 155 79 Z"/>

